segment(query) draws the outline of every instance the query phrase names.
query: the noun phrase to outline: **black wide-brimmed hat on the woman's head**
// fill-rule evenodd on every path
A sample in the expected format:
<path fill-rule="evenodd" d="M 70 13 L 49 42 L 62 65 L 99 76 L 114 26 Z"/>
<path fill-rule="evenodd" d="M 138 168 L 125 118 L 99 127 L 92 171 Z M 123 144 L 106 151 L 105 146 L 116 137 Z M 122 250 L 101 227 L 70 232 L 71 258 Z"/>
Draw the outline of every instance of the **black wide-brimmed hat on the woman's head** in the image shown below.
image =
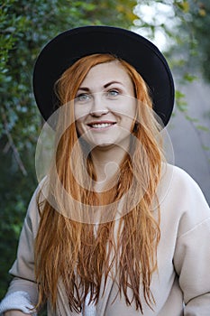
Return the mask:
<path fill-rule="evenodd" d="M 75 61 L 94 53 L 111 53 L 129 62 L 150 88 L 153 109 L 164 125 L 174 105 L 174 82 L 169 65 L 150 41 L 112 26 L 83 26 L 60 33 L 41 51 L 33 72 L 33 92 L 45 120 L 58 107 L 54 84 Z"/>

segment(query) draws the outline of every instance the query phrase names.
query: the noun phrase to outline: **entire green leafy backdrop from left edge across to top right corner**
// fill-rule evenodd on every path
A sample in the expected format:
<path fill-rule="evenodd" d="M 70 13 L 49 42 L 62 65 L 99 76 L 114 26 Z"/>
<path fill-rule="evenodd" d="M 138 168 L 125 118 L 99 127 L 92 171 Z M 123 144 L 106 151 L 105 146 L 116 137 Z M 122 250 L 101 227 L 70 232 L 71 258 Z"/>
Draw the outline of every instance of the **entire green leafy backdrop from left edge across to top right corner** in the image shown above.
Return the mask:
<path fill-rule="evenodd" d="M 138 2 L 138 5 L 137 5 Z M 154 19 L 145 21 L 140 6 L 165 5 Z M 133 8 L 135 10 L 133 11 Z M 134 14 L 133 14 L 134 12 Z M 168 16 L 168 15 L 169 16 Z M 138 16 L 137 16 L 138 15 Z M 167 19 L 168 18 L 168 19 Z M 173 23 L 172 23 L 173 22 Z M 15 257 L 27 204 L 37 180 L 34 153 L 41 116 L 32 95 L 32 67 L 43 45 L 58 33 L 87 24 L 150 28 L 165 33 L 172 45 L 169 59 L 183 82 L 196 78 L 192 65 L 210 81 L 209 0 L 5 0 L 0 5 L 0 297 L 9 282 L 7 271 Z M 190 66 L 190 67 L 189 67 Z M 177 91 L 180 109 L 184 96 Z M 200 128 L 202 128 L 200 126 Z"/>

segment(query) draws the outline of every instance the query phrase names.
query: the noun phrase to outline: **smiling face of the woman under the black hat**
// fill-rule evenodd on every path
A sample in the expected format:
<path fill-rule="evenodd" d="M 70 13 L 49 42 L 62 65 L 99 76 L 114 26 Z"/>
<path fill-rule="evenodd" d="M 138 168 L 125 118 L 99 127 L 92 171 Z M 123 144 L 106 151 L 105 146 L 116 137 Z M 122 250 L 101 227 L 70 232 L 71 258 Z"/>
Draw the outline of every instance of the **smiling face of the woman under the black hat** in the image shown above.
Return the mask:
<path fill-rule="evenodd" d="M 118 145 L 128 148 L 136 114 L 132 79 L 119 61 L 94 66 L 75 99 L 78 136 L 92 148 Z"/>

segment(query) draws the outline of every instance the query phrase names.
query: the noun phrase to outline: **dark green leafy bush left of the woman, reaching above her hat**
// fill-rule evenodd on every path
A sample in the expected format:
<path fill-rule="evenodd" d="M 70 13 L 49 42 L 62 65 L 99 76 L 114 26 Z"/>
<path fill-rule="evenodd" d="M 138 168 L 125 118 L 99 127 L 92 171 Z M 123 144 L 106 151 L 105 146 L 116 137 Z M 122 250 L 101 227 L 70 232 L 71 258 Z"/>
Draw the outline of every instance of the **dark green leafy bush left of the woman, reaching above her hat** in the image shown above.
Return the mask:
<path fill-rule="evenodd" d="M 130 27 L 134 5 L 133 0 L 5 0 L 0 5 L 0 298 L 37 185 L 34 155 L 42 121 L 32 95 L 35 59 L 46 42 L 69 28 Z"/>

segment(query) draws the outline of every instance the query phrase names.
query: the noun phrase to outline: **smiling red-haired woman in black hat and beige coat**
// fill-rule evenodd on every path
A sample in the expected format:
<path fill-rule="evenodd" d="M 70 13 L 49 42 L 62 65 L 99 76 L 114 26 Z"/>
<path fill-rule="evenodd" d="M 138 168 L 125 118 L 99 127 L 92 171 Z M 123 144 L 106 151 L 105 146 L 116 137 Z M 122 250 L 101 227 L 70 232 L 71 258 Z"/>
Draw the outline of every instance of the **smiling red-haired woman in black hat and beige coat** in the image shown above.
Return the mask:
<path fill-rule="evenodd" d="M 174 88 L 160 51 L 123 29 L 69 30 L 41 51 L 33 86 L 55 153 L 0 311 L 208 315 L 210 212 L 164 163 Z"/>

